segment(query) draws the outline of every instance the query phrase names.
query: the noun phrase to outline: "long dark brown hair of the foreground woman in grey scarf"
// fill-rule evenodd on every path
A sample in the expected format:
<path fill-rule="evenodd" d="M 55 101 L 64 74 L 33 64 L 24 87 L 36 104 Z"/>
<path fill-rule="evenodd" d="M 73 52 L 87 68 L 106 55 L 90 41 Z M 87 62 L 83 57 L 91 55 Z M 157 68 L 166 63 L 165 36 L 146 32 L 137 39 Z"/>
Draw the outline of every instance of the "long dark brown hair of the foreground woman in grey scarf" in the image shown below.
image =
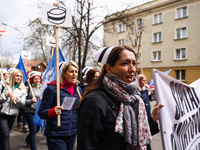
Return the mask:
<path fill-rule="evenodd" d="M 133 52 L 134 55 L 136 56 L 134 50 L 132 48 L 130 48 L 129 46 L 116 46 L 113 48 L 113 50 L 111 51 L 111 53 L 109 54 L 108 56 L 108 60 L 107 60 L 107 63 L 110 64 L 110 66 L 114 66 L 116 61 L 118 59 L 120 59 L 120 53 L 123 51 L 123 50 L 128 50 L 130 52 Z M 84 91 L 83 93 L 83 97 L 85 95 L 87 95 L 90 91 L 94 90 L 94 89 L 98 89 L 99 87 L 102 87 L 103 86 L 103 78 L 105 76 L 105 74 L 107 73 L 106 71 L 106 65 L 103 65 L 102 69 L 101 69 L 101 73 L 100 73 L 100 76 L 98 78 L 98 80 L 96 80 L 94 82 L 94 84 L 92 84 L 90 87 L 87 88 L 86 91 Z"/>

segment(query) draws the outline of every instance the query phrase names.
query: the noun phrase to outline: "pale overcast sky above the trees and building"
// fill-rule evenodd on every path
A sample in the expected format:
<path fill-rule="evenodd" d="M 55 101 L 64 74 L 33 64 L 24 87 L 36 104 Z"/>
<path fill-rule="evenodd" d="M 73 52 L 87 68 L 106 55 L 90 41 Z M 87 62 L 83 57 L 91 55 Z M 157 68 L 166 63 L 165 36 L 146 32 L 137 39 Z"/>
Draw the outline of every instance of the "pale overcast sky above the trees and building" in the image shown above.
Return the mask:
<path fill-rule="evenodd" d="M 70 1 L 68 0 L 67 7 L 70 7 Z M 99 5 L 106 4 L 106 7 L 110 9 L 110 13 L 114 13 L 117 10 L 123 10 L 127 6 L 134 6 L 150 0 L 94 0 L 95 3 Z M 0 25 L 5 23 L 9 26 L 8 35 L 3 35 L 2 37 L 2 47 L 3 52 L 10 52 L 15 60 L 14 63 L 17 64 L 19 56 L 23 49 L 24 40 L 23 36 L 26 36 L 27 24 L 29 20 L 33 20 L 36 17 L 41 17 L 40 10 L 37 9 L 37 4 L 41 0 L 0 0 Z M 53 3 L 55 0 L 42 0 L 42 2 Z M 108 15 L 108 14 L 104 14 Z M 16 31 L 13 28 L 17 28 Z"/>

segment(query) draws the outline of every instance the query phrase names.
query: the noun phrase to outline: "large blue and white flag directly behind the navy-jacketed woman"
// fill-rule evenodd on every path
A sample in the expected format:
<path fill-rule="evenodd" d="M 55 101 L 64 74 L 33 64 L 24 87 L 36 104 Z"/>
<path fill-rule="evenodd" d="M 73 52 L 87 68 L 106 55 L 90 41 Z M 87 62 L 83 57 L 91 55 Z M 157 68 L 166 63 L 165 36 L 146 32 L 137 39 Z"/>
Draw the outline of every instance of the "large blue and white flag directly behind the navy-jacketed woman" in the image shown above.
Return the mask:
<path fill-rule="evenodd" d="M 59 48 L 59 62 L 62 62 L 62 61 L 65 61 L 65 58 L 62 54 L 61 49 Z M 39 108 L 40 108 L 43 92 L 44 92 L 45 88 L 47 87 L 47 84 L 50 83 L 51 81 L 54 81 L 54 80 L 56 80 L 56 49 L 54 49 L 53 56 L 49 60 L 47 68 L 46 68 L 46 70 L 45 70 L 45 72 L 42 76 L 43 85 L 42 85 L 41 96 L 38 99 L 38 104 L 37 104 L 37 108 L 36 108 L 34 119 L 33 119 L 33 123 L 42 127 L 42 129 L 45 127 L 46 121 L 44 119 L 41 119 L 38 116 L 38 111 L 39 111 Z"/>

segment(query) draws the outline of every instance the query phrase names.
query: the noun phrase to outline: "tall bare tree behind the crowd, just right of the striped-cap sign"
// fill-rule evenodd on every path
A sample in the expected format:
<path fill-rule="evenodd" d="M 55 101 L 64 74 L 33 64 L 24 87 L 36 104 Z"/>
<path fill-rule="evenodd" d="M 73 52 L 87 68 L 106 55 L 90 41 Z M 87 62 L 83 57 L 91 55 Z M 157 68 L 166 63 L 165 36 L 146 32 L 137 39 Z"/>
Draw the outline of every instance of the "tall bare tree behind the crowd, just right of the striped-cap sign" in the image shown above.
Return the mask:
<path fill-rule="evenodd" d="M 88 0 L 76 0 L 75 14 L 72 17 L 72 28 L 63 28 L 68 34 L 66 39 L 67 43 L 65 47 L 73 51 L 72 59 L 78 62 L 79 75 L 81 75 L 81 70 L 86 65 L 86 60 L 91 55 L 88 55 L 91 51 L 97 50 L 94 47 L 97 44 L 92 42 L 92 37 L 94 33 L 103 25 L 125 19 L 127 16 L 124 13 L 115 13 L 111 18 L 103 18 L 101 21 L 94 22 L 95 16 L 93 11 L 97 7 L 93 6 L 93 3 Z M 68 42 L 67 42 L 68 41 Z M 77 56 L 77 57 L 75 57 Z M 80 77 L 79 77 L 80 79 Z"/>

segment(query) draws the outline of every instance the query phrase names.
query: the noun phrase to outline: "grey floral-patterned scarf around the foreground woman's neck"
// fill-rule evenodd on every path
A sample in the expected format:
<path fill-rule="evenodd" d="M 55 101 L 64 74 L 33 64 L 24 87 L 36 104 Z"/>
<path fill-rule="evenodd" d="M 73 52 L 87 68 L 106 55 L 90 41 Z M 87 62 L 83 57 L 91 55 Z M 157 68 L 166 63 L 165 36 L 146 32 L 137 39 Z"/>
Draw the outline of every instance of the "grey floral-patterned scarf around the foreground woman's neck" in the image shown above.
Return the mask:
<path fill-rule="evenodd" d="M 128 150 L 145 149 L 150 143 L 151 134 L 143 100 L 137 90 L 136 78 L 128 84 L 115 74 L 106 73 L 103 84 L 105 89 L 121 102 L 116 119 L 115 132 L 121 133 Z M 147 132 L 144 132 L 147 131 Z"/>

